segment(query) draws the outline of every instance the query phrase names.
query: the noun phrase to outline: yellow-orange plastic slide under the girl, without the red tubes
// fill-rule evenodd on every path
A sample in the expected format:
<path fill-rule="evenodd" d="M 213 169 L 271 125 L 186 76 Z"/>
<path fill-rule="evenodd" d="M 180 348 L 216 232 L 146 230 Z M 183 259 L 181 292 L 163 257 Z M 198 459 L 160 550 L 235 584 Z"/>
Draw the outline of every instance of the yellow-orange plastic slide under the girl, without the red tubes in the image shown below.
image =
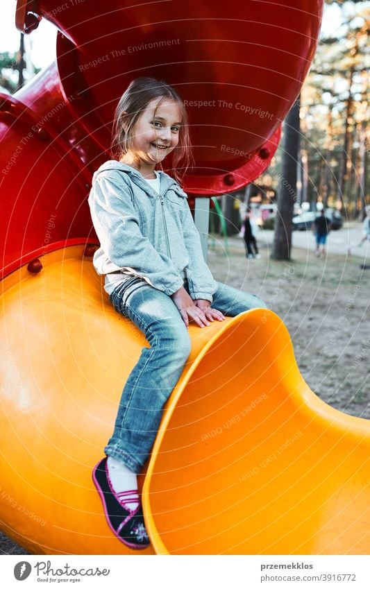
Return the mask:
<path fill-rule="evenodd" d="M 310 391 L 264 309 L 191 327 L 144 481 L 151 548 L 119 543 L 91 471 L 144 338 L 84 247 L 2 282 L 3 531 L 37 554 L 369 554 L 370 423 Z"/>

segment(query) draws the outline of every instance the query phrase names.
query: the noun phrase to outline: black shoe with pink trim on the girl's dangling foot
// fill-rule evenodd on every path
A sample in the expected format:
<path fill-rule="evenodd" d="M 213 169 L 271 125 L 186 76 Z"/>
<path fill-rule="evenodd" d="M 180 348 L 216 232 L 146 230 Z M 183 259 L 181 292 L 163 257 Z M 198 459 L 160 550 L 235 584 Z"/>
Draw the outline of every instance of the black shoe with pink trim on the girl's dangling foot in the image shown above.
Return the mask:
<path fill-rule="evenodd" d="M 142 506 L 139 503 L 135 510 L 128 509 L 127 506 L 129 502 L 133 502 L 132 495 L 135 491 L 115 493 L 110 484 L 106 458 L 96 464 L 92 471 L 92 480 L 103 502 L 108 525 L 115 536 L 130 548 L 147 548 L 150 541 L 145 529 Z"/>

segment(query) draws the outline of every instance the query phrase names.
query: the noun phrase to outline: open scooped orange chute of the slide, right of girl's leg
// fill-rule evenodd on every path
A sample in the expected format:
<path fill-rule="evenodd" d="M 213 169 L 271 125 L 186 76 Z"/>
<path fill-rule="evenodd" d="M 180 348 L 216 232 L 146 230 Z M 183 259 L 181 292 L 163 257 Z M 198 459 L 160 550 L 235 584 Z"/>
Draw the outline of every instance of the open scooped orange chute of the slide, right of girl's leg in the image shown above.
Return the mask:
<path fill-rule="evenodd" d="M 299 373 L 283 322 L 218 330 L 174 391 L 144 484 L 158 554 L 369 554 L 370 427 Z"/>

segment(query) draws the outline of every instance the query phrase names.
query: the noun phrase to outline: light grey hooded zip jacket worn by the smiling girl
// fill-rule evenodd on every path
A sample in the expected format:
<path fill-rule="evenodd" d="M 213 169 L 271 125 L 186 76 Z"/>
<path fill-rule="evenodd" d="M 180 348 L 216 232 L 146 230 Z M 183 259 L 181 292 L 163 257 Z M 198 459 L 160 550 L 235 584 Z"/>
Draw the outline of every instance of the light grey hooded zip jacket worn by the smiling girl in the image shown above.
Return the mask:
<path fill-rule="evenodd" d="M 205 264 L 187 195 L 165 172 L 160 195 L 132 167 L 110 160 L 92 177 L 89 205 L 101 247 L 98 274 L 141 276 L 171 295 L 187 278 L 190 296 L 212 302 L 217 282 Z"/>

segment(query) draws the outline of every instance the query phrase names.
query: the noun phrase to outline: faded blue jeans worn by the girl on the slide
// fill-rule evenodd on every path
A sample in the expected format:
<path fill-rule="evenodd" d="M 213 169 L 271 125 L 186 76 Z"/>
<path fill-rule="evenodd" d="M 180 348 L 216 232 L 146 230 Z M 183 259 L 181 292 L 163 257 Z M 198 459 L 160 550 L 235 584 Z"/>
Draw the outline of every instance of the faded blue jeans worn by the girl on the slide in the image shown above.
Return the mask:
<path fill-rule="evenodd" d="M 165 402 L 190 355 L 191 341 L 173 300 L 142 278 L 125 279 L 110 294 L 110 302 L 118 313 L 139 327 L 150 344 L 150 348 L 142 348 L 127 379 L 115 429 L 104 449 L 107 456 L 124 462 L 133 472 L 140 472 L 158 432 Z M 234 317 L 266 305 L 256 296 L 218 282 L 212 307 Z"/>

